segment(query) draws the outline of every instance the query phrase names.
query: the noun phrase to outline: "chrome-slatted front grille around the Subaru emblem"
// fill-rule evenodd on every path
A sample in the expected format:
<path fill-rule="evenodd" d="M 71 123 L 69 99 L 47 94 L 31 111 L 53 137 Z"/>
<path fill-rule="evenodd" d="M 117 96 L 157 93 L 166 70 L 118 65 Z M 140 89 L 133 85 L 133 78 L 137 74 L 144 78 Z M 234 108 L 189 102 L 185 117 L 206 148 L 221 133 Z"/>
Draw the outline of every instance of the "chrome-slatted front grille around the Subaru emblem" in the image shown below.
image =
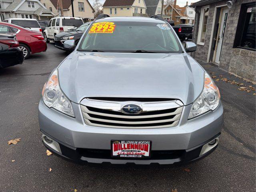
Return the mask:
<path fill-rule="evenodd" d="M 140 114 L 124 114 L 122 106 L 137 104 Z M 178 100 L 164 102 L 114 102 L 84 99 L 81 110 L 84 121 L 90 126 L 106 128 L 165 128 L 178 125 L 182 113 L 182 103 Z"/>

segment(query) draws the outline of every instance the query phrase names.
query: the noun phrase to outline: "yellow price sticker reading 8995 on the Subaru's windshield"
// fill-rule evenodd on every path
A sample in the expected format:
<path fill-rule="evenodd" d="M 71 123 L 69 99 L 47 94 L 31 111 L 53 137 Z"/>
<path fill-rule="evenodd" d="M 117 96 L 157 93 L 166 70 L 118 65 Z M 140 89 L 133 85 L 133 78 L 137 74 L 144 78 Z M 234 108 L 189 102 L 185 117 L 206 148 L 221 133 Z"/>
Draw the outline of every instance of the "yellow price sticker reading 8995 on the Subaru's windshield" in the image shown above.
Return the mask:
<path fill-rule="evenodd" d="M 89 33 L 113 33 L 115 27 L 113 22 L 97 22 L 92 24 Z"/>

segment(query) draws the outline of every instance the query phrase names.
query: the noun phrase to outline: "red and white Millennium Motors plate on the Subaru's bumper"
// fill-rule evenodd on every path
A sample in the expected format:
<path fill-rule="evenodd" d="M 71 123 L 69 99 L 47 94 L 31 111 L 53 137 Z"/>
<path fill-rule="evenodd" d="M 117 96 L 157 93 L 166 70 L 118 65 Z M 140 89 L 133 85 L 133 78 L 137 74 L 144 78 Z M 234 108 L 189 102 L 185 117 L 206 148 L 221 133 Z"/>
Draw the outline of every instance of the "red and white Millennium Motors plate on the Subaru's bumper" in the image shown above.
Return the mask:
<path fill-rule="evenodd" d="M 111 156 L 119 158 L 149 158 L 152 141 L 111 140 Z"/>

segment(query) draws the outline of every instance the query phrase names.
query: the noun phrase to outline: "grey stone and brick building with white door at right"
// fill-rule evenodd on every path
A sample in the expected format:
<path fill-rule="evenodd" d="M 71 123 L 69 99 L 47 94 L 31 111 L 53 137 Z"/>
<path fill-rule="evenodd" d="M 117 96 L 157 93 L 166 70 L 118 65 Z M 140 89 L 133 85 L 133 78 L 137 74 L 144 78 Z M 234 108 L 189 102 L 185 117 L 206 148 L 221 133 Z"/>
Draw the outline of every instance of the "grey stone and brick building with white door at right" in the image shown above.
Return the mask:
<path fill-rule="evenodd" d="M 228 4 L 228 6 L 227 6 Z M 255 82 L 255 0 L 201 0 L 195 8 L 192 56 Z"/>

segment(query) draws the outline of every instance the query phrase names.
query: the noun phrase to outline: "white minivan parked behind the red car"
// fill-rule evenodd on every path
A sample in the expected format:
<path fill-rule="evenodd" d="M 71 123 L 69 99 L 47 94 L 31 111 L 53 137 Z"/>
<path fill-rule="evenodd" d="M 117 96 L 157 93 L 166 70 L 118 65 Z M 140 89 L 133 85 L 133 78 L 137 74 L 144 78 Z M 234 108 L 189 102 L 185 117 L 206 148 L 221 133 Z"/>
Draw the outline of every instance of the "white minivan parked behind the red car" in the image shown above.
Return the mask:
<path fill-rule="evenodd" d="M 14 25 L 18 25 L 24 28 L 27 28 L 31 31 L 42 32 L 42 28 L 40 27 L 38 21 L 36 19 L 25 19 L 25 18 L 9 18 L 4 20 L 4 22 L 12 23 Z"/>

